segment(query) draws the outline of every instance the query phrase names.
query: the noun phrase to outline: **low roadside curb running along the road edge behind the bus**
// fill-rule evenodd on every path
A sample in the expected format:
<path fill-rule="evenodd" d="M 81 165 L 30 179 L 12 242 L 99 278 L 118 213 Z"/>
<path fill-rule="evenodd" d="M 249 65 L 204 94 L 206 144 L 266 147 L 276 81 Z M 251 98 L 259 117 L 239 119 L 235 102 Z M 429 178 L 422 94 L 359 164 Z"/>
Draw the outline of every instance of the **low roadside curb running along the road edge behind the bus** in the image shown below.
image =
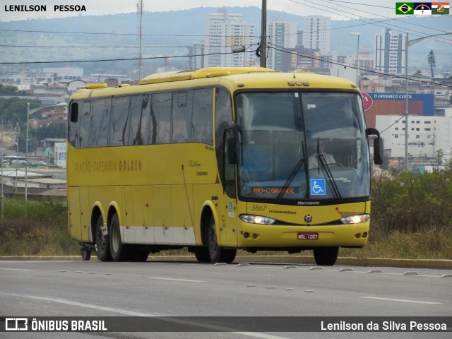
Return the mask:
<path fill-rule="evenodd" d="M 0 256 L 0 260 L 75 260 L 81 261 L 81 256 Z M 93 256 L 91 260 L 97 258 Z M 148 261 L 189 261 L 197 262 L 195 256 L 149 256 Z M 316 265 L 311 256 L 237 256 L 234 263 L 270 263 Z M 341 266 L 376 266 L 402 268 L 437 268 L 452 270 L 452 260 L 429 259 L 388 259 L 388 258 L 338 258 L 336 265 Z"/>

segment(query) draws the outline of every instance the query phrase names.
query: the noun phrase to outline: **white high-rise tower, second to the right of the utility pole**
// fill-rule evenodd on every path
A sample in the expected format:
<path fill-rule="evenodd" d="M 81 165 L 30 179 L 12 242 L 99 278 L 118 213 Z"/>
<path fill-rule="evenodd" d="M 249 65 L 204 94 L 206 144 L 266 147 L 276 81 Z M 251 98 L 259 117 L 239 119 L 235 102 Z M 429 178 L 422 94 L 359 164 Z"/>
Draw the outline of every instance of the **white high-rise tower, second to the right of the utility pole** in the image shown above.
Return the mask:
<path fill-rule="evenodd" d="M 303 26 L 303 47 L 320 49 L 320 54 L 330 53 L 331 18 L 329 16 L 306 16 Z"/>

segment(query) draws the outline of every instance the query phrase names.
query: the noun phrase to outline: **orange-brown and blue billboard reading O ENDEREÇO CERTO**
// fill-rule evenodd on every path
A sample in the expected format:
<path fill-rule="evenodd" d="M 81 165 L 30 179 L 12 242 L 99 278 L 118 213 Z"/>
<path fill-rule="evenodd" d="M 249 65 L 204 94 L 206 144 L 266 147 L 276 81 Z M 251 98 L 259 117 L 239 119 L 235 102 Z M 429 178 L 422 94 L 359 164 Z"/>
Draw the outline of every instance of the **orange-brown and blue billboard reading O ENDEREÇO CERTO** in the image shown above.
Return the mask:
<path fill-rule="evenodd" d="M 405 93 L 362 93 L 367 127 L 375 128 L 377 115 L 405 114 Z M 433 117 L 434 95 L 408 93 L 408 114 Z"/>

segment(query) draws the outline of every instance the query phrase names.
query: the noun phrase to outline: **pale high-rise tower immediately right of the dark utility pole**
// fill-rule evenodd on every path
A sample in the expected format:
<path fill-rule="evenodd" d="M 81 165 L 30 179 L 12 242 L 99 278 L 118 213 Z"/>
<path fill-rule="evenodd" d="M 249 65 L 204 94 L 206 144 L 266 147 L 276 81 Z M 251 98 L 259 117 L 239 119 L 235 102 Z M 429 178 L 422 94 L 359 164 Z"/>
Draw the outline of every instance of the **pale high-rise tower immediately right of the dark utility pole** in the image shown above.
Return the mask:
<path fill-rule="evenodd" d="M 287 52 L 278 49 L 295 48 L 297 46 L 297 32 L 297 22 L 289 22 L 283 18 L 270 18 L 267 28 L 268 68 L 283 71 Z"/>

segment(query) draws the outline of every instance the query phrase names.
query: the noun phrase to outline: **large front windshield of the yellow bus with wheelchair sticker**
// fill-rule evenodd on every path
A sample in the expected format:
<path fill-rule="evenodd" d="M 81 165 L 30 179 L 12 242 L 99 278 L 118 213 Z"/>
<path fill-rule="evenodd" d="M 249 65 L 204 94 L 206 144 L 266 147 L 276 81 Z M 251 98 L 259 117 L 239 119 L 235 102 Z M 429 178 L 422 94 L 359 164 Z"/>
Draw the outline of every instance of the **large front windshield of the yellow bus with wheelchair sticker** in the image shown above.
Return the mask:
<path fill-rule="evenodd" d="M 241 198 L 299 203 L 369 196 L 358 94 L 239 93 L 236 112 Z"/>

